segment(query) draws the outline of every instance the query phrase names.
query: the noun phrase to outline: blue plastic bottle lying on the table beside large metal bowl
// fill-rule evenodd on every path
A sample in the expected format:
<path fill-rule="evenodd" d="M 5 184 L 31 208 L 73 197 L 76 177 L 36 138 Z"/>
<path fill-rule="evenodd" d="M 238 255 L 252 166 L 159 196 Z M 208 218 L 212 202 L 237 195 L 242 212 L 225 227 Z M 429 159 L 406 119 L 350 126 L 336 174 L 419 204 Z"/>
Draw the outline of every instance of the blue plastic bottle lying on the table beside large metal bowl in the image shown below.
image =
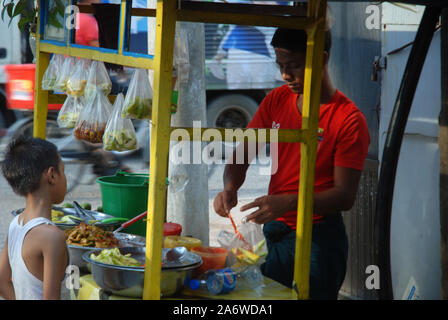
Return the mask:
<path fill-rule="evenodd" d="M 200 279 L 190 280 L 189 286 L 212 295 L 228 293 L 236 287 L 236 273 L 231 268 L 209 270 Z"/>

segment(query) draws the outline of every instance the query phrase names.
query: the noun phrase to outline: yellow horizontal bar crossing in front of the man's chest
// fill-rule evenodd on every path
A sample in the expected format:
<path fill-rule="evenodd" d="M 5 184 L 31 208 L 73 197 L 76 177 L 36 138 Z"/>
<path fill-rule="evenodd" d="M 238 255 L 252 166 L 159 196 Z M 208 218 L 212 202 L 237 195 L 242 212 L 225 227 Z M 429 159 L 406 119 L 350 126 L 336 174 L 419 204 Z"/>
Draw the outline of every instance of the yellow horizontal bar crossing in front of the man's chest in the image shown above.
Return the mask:
<path fill-rule="evenodd" d="M 308 131 L 295 129 L 171 127 L 170 132 L 170 138 L 172 141 L 306 142 L 307 136 Z"/>

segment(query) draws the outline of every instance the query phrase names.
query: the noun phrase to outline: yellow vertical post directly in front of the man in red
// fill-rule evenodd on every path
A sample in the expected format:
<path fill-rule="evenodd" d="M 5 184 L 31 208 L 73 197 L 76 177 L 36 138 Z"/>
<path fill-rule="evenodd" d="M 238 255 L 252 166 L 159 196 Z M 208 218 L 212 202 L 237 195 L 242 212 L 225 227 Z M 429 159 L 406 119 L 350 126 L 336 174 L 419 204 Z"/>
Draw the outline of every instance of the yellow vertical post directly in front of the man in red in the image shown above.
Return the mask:
<path fill-rule="evenodd" d="M 322 84 L 323 50 L 325 37 L 326 1 L 309 1 L 308 15 L 318 10 L 320 23 L 307 29 L 305 83 L 303 90 L 302 129 L 306 130 L 301 143 L 300 184 L 297 209 L 296 251 L 293 297 L 308 299 L 311 256 L 312 217 L 314 205 L 314 170 L 317 153 L 317 130 Z M 320 5 L 316 8 L 315 5 Z"/>

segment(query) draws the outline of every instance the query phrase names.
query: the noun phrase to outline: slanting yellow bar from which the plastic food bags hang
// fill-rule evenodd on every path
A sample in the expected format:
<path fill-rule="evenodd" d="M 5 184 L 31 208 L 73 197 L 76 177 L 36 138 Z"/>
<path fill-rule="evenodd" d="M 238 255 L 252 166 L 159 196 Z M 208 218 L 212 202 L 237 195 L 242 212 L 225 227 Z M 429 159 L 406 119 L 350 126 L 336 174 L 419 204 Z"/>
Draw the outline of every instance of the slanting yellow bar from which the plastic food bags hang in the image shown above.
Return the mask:
<path fill-rule="evenodd" d="M 119 55 L 117 53 L 101 52 L 95 49 L 65 47 L 41 42 L 40 51 L 47 53 L 62 54 L 66 56 L 80 57 L 84 59 L 104 61 L 108 63 L 119 64 L 133 68 L 153 69 L 152 59 L 124 56 Z"/>

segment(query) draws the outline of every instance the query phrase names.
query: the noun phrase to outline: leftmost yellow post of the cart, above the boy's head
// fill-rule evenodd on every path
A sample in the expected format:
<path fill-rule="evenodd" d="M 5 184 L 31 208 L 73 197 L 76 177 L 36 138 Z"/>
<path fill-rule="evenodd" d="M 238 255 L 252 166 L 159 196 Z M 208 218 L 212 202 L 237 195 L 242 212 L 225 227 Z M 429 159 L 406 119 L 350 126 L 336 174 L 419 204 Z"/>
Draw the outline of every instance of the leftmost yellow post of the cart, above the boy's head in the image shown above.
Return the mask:
<path fill-rule="evenodd" d="M 39 7 L 42 6 L 42 3 Z M 45 139 L 48 113 L 48 91 L 42 90 L 42 78 L 50 62 L 50 54 L 40 52 L 40 17 L 37 17 L 36 32 L 36 76 L 34 84 L 34 127 L 33 136 Z"/>

